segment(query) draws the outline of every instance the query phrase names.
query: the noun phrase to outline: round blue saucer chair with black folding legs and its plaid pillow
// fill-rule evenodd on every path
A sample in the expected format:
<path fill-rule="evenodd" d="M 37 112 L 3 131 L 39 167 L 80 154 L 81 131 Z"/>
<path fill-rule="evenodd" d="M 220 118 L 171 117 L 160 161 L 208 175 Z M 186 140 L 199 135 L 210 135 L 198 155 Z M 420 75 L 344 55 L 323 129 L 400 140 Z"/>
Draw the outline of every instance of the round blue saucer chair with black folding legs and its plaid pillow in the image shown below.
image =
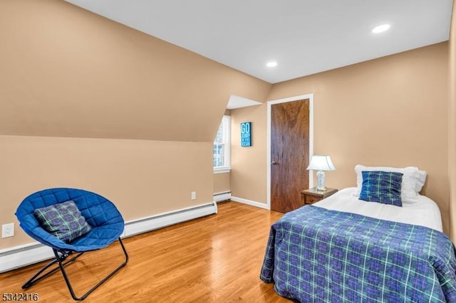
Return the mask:
<path fill-rule="evenodd" d="M 22 286 L 23 289 L 61 270 L 71 297 L 75 300 L 83 300 L 128 262 L 127 250 L 120 239 L 124 220 L 114 204 L 97 193 L 76 188 L 45 189 L 25 198 L 17 208 L 16 216 L 21 228 L 33 239 L 52 248 L 55 255 L 55 259 Z M 71 222 L 74 218 L 77 218 L 76 227 L 75 223 Z M 63 226 L 60 228 L 60 233 L 55 225 Z M 75 233 L 75 230 L 79 231 Z M 68 233 L 73 235 L 68 238 Z M 84 252 L 100 250 L 116 240 L 120 243 L 125 261 L 88 292 L 77 297 L 68 279 L 65 266 L 81 257 Z M 49 269 L 56 263 L 56 267 Z"/>

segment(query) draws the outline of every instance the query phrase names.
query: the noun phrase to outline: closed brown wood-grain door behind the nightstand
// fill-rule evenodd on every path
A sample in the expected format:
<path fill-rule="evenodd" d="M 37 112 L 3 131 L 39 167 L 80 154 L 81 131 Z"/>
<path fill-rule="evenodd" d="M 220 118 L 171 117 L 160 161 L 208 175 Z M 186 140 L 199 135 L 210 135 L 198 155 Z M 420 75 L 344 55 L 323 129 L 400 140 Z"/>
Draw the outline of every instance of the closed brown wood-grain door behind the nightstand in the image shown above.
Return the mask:
<path fill-rule="evenodd" d="M 271 210 L 301 206 L 308 188 L 309 99 L 271 105 Z"/>

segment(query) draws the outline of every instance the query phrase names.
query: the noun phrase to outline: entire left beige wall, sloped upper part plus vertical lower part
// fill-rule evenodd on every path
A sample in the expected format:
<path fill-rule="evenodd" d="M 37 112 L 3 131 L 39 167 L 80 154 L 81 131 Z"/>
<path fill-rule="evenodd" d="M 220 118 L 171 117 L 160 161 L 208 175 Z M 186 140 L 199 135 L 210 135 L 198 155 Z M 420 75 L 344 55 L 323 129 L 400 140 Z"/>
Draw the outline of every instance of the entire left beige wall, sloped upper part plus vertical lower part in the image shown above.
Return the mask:
<path fill-rule="evenodd" d="M 0 1 L 0 37 L 0 223 L 16 223 L 0 249 L 32 242 L 14 211 L 43 188 L 95 191 L 126 220 L 212 202 L 229 97 L 271 87 L 61 0 Z"/>

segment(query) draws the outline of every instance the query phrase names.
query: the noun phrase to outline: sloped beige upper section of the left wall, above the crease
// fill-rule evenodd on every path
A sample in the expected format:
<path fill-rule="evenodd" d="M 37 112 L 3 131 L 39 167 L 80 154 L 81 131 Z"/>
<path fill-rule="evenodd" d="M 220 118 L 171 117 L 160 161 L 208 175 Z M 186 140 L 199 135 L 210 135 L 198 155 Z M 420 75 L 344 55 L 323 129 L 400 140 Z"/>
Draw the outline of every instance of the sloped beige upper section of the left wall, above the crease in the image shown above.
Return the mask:
<path fill-rule="evenodd" d="M 212 142 L 271 87 L 64 1 L 1 1 L 0 36 L 0 134 Z"/>

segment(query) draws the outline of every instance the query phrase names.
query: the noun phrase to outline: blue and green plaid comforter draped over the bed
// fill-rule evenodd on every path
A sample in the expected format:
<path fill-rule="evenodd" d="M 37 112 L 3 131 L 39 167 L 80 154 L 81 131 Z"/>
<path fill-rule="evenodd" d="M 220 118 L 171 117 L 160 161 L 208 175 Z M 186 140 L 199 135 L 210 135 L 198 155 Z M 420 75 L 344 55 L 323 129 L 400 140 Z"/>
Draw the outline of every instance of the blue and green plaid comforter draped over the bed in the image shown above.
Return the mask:
<path fill-rule="evenodd" d="M 271 226 L 260 277 L 299 302 L 456 302 L 445 234 L 316 206 Z"/>

